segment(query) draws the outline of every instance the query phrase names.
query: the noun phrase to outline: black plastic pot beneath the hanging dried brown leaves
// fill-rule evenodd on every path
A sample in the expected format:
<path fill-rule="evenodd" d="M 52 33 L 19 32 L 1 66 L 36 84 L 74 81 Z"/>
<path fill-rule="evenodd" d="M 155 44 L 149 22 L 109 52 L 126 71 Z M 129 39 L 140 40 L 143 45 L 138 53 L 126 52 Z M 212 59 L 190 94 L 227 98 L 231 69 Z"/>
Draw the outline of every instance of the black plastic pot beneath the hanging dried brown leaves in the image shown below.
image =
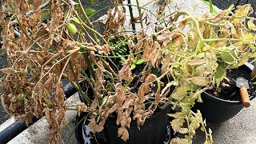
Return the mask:
<path fill-rule="evenodd" d="M 79 94 L 79 98 L 84 102 L 82 95 Z M 99 134 L 95 134 L 96 139 L 100 144 L 161 144 L 167 136 L 166 127 L 170 124 L 170 117 L 167 114 L 170 114 L 171 111 L 170 105 L 165 106 L 163 110 L 147 118 L 144 125 L 140 126 L 140 130 L 138 130 L 137 122 L 132 121 L 130 123 L 130 129 L 128 129 L 129 139 L 126 142 L 118 137 L 118 127 L 120 126 L 117 126 L 115 121 L 106 120 L 104 130 Z M 76 118 L 76 124 L 79 124 L 76 128 L 76 138 L 79 144 L 86 143 L 84 142 L 85 136 L 82 134 L 82 127 L 86 123 L 81 122 L 81 119 L 85 115 L 84 113 L 82 116 Z M 173 134 L 173 131 L 169 132 L 169 136 L 171 135 L 172 138 L 174 138 Z"/>

